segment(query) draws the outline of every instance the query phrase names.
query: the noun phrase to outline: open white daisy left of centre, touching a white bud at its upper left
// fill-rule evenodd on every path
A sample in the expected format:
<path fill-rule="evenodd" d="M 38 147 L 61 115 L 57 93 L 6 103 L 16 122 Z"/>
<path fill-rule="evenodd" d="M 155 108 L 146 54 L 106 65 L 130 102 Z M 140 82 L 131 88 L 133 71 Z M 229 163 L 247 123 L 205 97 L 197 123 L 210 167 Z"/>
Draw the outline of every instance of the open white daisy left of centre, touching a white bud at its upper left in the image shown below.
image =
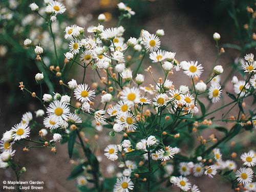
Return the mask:
<path fill-rule="evenodd" d="M 75 90 L 74 95 L 76 99 L 81 102 L 90 102 L 95 97 L 95 91 L 89 91 L 88 84 L 79 84 Z"/>

